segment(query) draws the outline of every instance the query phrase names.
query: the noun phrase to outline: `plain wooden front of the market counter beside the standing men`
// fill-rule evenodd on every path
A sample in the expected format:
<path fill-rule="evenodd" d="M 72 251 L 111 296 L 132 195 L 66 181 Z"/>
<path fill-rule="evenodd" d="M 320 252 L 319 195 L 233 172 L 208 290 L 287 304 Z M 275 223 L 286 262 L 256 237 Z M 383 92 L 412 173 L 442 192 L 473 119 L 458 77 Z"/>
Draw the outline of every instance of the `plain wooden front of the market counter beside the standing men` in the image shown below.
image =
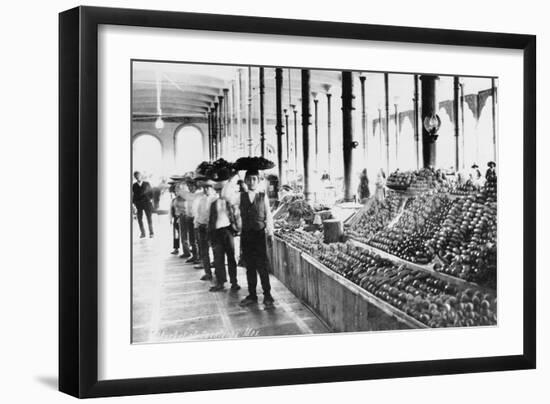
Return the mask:
<path fill-rule="evenodd" d="M 273 274 L 334 331 L 427 328 L 278 237 L 271 262 Z"/>

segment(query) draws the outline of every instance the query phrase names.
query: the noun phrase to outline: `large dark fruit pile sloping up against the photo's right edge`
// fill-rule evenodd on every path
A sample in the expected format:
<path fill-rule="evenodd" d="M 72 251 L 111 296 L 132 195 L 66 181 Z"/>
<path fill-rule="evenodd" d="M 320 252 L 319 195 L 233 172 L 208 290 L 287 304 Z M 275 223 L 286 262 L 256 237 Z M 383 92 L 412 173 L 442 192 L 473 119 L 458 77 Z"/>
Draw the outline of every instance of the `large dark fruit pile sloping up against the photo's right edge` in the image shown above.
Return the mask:
<path fill-rule="evenodd" d="M 496 187 L 453 201 L 441 229 L 426 245 L 442 260 L 434 269 L 496 287 L 497 205 Z"/>

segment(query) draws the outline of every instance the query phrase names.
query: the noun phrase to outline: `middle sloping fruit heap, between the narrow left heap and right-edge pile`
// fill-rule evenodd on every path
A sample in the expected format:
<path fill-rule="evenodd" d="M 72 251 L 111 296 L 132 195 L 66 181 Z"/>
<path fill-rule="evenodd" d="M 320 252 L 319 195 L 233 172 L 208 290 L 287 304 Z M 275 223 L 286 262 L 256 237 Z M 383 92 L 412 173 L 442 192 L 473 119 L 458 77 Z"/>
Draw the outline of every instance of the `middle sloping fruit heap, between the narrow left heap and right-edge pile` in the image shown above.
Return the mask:
<path fill-rule="evenodd" d="M 434 251 L 426 241 L 439 230 L 451 203 L 445 194 L 418 196 L 408 204 L 397 223 L 376 233 L 368 244 L 404 260 L 427 264 L 432 261 Z"/>

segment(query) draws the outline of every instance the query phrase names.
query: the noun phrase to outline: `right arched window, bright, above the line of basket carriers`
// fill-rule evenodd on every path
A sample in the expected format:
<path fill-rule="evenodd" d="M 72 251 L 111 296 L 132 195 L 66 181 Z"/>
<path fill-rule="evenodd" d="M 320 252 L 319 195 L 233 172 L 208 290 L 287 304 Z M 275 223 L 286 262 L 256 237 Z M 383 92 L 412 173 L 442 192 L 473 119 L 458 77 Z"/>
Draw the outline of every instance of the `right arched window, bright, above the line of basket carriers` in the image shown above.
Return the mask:
<path fill-rule="evenodd" d="M 194 171 L 205 160 L 202 133 L 194 126 L 184 126 L 176 133 L 176 170 L 178 174 Z"/>

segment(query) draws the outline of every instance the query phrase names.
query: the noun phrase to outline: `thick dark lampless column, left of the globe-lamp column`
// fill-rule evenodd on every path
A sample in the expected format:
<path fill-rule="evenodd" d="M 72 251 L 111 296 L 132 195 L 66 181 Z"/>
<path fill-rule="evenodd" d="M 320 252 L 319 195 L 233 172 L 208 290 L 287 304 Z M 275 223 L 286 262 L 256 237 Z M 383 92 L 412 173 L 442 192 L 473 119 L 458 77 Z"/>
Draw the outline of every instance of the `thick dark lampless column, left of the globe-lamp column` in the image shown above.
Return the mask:
<path fill-rule="evenodd" d="M 351 176 L 353 168 L 353 78 L 350 71 L 342 72 L 342 136 L 344 152 L 344 200 L 352 201 Z"/>

